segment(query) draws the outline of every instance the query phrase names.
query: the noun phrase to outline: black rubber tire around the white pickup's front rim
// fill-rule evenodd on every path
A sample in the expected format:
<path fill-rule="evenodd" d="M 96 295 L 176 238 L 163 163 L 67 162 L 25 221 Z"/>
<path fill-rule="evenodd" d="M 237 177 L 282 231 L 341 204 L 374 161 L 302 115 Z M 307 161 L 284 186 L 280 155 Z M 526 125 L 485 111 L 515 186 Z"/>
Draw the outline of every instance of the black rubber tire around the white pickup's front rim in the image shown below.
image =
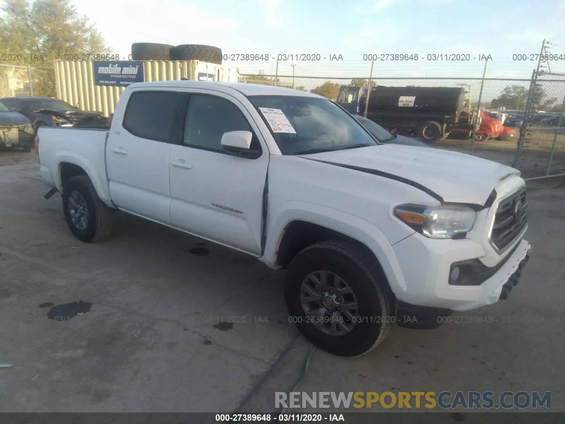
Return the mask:
<path fill-rule="evenodd" d="M 386 291 L 388 286 L 384 274 L 374 263 L 374 259 L 368 257 L 358 246 L 341 241 L 323 241 L 303 249 L 292 259 L 286 274 L 285 300 L 289 321 L 294 322 L 308 340 L 330 353 L 357 356 L 371 351 L 383 341 L 394 322 L 394 311 L 391 297 Z M 349 310 L 357 319 L 347 319 L 345 314 L 339 313 L 346 325 L 351 327 L 344 334 L 328 334 L 312 322 L 311 317 L 315 315 L 306 317 L 306 306 L 303 308 L 301 299 L 301 293 L 306 293 L 303 291 L 303 283 L 312 283 L 314 280 L 308 279 L 308 276 L 316 274 L 316 271 L 329 272 L 326 274 L 328 281 L 331 274 L 339 276 L 353 293 L 353 296 L 344 294 L 342 298 L 337 297 L 341 303 L 334 304 L 351 304 L 352 300 L 357 302 L 357 311 Z M 319 281 L 322 279 L 321 276 L 318 278 Z M 338 294 L 337 291 L 326 293 L 332 296 Z M 322 299 L 327 301 L 327 297 Z M 322 309 L 319 302 L 317 305 L 312 304 L 312 308 L 315 309 L 311 310 Z M 324 326 L 328 330 L 331 325 Z"/>

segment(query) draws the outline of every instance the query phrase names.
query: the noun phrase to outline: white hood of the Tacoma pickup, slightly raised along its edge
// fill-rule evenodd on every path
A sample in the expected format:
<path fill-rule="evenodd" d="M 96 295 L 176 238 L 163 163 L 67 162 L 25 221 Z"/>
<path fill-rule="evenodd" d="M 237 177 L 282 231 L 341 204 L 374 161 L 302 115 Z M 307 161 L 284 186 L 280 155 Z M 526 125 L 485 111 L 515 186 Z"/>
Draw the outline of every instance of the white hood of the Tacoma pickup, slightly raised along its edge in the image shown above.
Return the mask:
<path fill-rule="evenodd" d="M 483 206 L 495 186 L 520 171 L 464 153 L 383 144 L 300 155 L 414 185 L 443 202 Z"/>

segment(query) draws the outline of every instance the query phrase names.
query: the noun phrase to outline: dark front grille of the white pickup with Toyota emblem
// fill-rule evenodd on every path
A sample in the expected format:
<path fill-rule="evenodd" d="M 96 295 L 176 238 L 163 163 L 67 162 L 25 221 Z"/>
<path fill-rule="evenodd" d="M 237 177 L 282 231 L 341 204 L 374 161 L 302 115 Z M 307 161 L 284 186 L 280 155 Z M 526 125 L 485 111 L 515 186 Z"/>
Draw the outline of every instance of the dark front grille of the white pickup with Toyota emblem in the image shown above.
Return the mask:
<path fill-rule="evenodd" d="M 507 197 L 498 204 L 490 241 L 498 250 L 504 250 L 528 225 L 526 191 Z"/>

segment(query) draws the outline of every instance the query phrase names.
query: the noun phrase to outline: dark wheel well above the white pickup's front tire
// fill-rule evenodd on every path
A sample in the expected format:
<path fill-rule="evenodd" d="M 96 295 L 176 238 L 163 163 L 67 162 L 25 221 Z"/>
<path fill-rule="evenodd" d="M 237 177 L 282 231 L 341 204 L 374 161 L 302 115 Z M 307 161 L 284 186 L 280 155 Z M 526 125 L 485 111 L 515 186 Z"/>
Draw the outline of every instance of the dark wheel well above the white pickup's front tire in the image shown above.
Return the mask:
<path fill-rule="evenodd" d="M 372 262 L 370 265 L 373 266 L 373 270 L 378 272 L 385 282 L 383 288 L 387 295 L 390 296 L 390 300 L 396 300 L 396 296 L 394 296 L 394 292 L 390 288 L 388 279 L 383 271 L 383 267 L 371 249 L 359 240 L 355 240 L 353 237 L 331 230 L 330 228 L 319 226 L 318 224 L 298 220 L 289 223 L 288 226 L 286 226 L 284 235 L 282 235 L 281 243 L 279 244 L 279 249 L 277 250 L 276 263 L 282 268 L 286 268 L 290 264 L 290 261 L 292 261 L 292 259 L 301 252 L 301 250 L 311 246 L 312 244 L 327 240 L 341 240 L 357 246 L 357 248 L 359 248 L 359 250 L 361 250 L 361 252 L 363 252 L 364 255 Z"/>

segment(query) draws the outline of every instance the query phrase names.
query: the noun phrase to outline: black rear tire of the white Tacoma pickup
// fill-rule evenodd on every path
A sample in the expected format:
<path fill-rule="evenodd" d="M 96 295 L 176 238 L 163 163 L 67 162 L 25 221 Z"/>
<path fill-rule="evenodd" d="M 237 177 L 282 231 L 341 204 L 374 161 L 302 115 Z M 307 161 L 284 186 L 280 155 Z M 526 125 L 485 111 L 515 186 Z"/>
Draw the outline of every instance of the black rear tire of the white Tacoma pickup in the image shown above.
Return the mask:
<path fill-rule="evenodd" d="M 73 197 L 76 202 L 79 193 L 86 206 L 86 213 L 82 216 L 86 217 L 86 223 L 83 221 L 77 225 L 73 222 L 71 217 L 71 206 L 69 204 L 69 197 Z M 80 241 L 85 243 L 95 243 L 107 239 L 112 232 L 112 209 L 106 206 L 98 197 L 92 181 L 86 175 L 77 175 L 68 179 L 67 184 L 63 188 L 63 213 L 67 220 L 73 235 Z M 76 209 L 73 209 L 76 210 Z"/>

